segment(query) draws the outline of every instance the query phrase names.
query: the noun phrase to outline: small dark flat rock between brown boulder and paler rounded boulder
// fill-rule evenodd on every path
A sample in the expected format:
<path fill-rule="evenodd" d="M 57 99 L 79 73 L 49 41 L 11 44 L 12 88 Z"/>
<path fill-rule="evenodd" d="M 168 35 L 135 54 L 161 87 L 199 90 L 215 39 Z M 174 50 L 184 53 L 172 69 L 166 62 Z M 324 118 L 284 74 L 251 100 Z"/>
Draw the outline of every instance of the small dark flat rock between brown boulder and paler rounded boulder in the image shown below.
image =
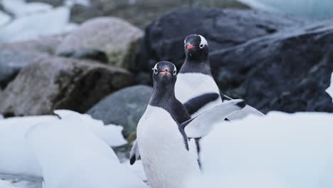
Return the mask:
<path fill-rule="evenodd" d="M 68 51 L 66 53 L 60 53 L 58 55 L 66 58 L 90 59 L 99 61 L 100 63 L 109 63 L 109 58 L 107 58 L 107 55 L 104 51 L 90 48 L 83 48 L 78 51 Z"/>

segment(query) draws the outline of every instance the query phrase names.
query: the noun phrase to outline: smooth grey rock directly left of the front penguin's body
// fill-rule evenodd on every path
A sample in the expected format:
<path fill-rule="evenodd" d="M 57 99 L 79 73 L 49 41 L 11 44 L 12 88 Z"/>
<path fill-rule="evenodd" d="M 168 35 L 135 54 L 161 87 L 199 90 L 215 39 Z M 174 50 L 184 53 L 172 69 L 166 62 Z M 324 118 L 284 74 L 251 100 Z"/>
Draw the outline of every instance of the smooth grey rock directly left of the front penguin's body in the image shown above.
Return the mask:
<path fill-rule="evenodd" d="M 152 88 L 145 85 L 118 90 L 97 103 L 88 114 L 105 125 L 122 125 L 123 135 L 128 138 L 137 130 L 137 122 L 147 108 L 150 95 Z"/>

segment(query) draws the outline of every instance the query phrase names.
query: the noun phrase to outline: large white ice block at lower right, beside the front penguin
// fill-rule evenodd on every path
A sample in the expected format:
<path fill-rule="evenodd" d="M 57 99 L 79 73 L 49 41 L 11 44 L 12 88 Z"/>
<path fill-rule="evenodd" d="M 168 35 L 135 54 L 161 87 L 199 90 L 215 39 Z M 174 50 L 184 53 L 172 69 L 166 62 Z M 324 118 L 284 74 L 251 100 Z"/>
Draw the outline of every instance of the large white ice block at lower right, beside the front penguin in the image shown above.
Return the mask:
<path fill-rule="evenodd" d="M 188 187 L 333 187 L 333 114 L 269 113 L 219 122 Z M 203 186 L 205 185 L 205 186 Z"/>

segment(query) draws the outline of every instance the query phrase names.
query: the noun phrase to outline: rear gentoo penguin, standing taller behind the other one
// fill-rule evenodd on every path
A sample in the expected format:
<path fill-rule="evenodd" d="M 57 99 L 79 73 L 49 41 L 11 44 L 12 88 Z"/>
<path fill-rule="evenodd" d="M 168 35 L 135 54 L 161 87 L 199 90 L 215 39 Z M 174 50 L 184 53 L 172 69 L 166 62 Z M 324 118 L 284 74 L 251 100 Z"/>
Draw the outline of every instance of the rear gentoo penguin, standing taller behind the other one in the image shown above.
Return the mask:
<path fill-rule="evenodd" d="M 177 75 L 178 78 L 175 85 L 176 98 L 181 103 L 187 103 L 191 99 L 205 93 L 217 93 L 219 95 L 216 100 L 208 103 L 198 111 L 192 112 L 192 117 L 224 101 L 231 100 L 231 98 L 220 92 L 211 75 L 211 66 L 208 58 L 209 46 L 206 38 L 196 34 L 187 36 L 184 41 L 184 50 L 186 59 Z M 228 120 L 236 120 L 248 114 L 263 115 L 255 108 L 246 105 L 243 110 L 228 117 Z"/>

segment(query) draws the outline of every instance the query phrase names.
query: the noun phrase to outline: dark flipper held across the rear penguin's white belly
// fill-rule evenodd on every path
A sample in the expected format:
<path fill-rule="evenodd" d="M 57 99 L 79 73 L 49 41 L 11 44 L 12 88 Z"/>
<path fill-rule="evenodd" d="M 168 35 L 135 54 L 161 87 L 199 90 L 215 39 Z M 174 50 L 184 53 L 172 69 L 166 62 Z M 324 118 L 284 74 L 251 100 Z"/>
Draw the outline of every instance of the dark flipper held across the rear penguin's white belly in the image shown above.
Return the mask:
<path fill-rule="evenodd" d="M 190 115 L 196 113 L 200 108 L 203 108 L 207 103 L 211 103 L 212 101 L 218 99 L 218 93 L 206 93 L 203 95 L 199 95 L 196 98 L 192 98 L 191 100 L 184 103 L 186 110 Z"/>

